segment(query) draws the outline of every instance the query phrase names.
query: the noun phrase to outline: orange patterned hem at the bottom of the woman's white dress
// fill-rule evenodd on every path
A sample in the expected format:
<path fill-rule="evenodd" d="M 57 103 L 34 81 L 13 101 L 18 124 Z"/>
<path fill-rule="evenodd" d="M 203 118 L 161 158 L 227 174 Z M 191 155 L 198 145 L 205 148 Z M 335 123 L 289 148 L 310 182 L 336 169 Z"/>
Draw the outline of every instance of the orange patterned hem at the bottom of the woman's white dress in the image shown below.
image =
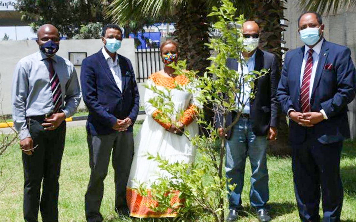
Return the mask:
<path fill-rule="evenodd" d="M 154 212 L 150 206 L 157 207 L 158 202 L 152 200 L 151 191 L 147 190 L 148 196 L 141 196 L 136 190 L 126 188 L 126 203 L 130 210 L 130 216 L 132 217 L 176 217 L 177 214 L 173 213 L 171 209 L 167 212 Z M 171 199 L 171 206 L 173 204 L 181 202 L 178 198 L 178 191 L 174 192 L 174 197 Z"/>

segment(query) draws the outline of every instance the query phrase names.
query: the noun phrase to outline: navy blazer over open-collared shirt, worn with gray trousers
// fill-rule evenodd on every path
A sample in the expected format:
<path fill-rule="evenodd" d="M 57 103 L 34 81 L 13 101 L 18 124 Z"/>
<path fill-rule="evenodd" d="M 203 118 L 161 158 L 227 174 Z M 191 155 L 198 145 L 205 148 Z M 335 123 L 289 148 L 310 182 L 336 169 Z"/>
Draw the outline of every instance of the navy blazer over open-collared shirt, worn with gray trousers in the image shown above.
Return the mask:
<path fill-rule="evenodd" d="M 132 131 L 139 109 L 135 74 L 126 57 L 117 54 L 122 74 L 122 92 L 116 85 L 109 65 L 101 50 L 83 60 L 80 72 L 83 100 L 89 109 L 87 132 L 105 135 L 115 132 L 112 126 L 117 119 L 129 117 Z"/>

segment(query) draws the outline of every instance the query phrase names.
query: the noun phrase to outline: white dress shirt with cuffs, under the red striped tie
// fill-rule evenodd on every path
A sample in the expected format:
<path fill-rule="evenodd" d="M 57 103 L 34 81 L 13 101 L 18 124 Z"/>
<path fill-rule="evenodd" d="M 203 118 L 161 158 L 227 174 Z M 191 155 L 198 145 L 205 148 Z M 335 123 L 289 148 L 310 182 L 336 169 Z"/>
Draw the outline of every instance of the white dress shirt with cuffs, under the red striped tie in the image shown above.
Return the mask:
<path fill-rule="evenodd" d="M 324 38 L 318 42 L 318 44 L 314 45 L 313 49 L 313 68 L 312 68 L 312 75 L 310 76 L 310 82 L 309 82 L 309 102 L 310 98 L 312 97 L 312 91 L 313 91 L 313 86 L 314 86 L 314 79 L 315 79 L 315 73 L 316 73 L 316 68 L 318 67 L 318 62 L 319 62 L 319 57 L 320 57 L 320 51 L 321 51 L 321 46 L 323 45 Z M 302 87 L 303 83 L 303 76 L 304 76 L 304 69 L 305 69 L 305 64 L 307 63 L 309 54 L 309 46 L 305 45 L 305 50 L 304 50 L 304 58 L 303 58 L 303 63 L 302 63 L 302 68 L 300 69 L 300 87 Z M 290 111 L 295 111 L 294 109 L 289 109 L 288 110 L 288 117 L 289 117 L 289 112 Z M 325 119 L 328 119 L 328 116 L 326 115 L 325 111 L 323 109 L 320 110 L 320 113 L 323 114 Z"/>

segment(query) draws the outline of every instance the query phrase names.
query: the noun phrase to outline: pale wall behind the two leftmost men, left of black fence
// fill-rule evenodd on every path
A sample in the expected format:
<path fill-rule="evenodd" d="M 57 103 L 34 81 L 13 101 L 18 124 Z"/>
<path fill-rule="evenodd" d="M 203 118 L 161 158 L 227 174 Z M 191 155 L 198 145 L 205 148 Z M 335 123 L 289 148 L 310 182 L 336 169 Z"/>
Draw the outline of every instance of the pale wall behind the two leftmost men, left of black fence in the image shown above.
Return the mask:
<path fill-rule="evenodd" d="M 61 40 L 57 55 L 68 59 L 69 52 L 86 52 L 87 56 L 98 52 L 103 47 L 101 39 Z M 16 63 L 23 57 L 38 51 L 35 40 L 0 41 L 0 98 L 2 114 L 11 114 L 11 82 Z M 136 67 L 135 44 L 133 39 L 123 39 L 117 53 L 126 56 Z M 80 66 L 75 66 L 80 78 Z M 84 108 L 83 100 L 79 108 Z"/>

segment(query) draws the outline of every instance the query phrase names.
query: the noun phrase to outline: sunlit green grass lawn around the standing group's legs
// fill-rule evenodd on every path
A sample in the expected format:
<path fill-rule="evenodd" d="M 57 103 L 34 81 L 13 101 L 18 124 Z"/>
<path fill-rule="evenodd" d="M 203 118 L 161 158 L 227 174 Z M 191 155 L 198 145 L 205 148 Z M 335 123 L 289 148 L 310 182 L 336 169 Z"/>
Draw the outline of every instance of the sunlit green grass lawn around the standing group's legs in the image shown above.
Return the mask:
<path fill-rule="evenodd" d="M 140 124 L 136 124 L 137 131 Z M 84 127 L 68 128 L 66 148 L 62 160 L 60 178 L 59 221 L 84 222 L 84 194 L 89 181 L 89 155 Z M 356 222 L 356 142 L 345 142 L 341 160 L 341 174 L 344 182 L 345 197 L 342 209 L 343 222 Z M 199 161 L 199 155 L 197 157 Z M 269 189 L 272 207 L 272 221 L 299 221 L 293 192 L 292 169 L 289 157 L 268 156 Z M 23 221 L 22 219 L 22 189 L 23 172 L 21 152 L 17 146 L 10 147 L 5 155 L 0 157 L 0 190 L 6 182 L 7 186 L 0 193 L 0 221 Z M 101 213 L 107 222 L 130 222 L 130 218 L 119 218 L 114 212 L 114 177 L 113 169 L 109 167 L 105 180 L 104 199 Z M 243 205 L 248 212 L 242 217 L 242 222 L 258 221 L 250 210 L 248 193 L 251 175 L 250 163 L 246 163 L 245 187 L 242 195 Z M 135 220 L 140 221 L 140 220 Z M 158 220 L 142 220 L 158 221 Z"/>

